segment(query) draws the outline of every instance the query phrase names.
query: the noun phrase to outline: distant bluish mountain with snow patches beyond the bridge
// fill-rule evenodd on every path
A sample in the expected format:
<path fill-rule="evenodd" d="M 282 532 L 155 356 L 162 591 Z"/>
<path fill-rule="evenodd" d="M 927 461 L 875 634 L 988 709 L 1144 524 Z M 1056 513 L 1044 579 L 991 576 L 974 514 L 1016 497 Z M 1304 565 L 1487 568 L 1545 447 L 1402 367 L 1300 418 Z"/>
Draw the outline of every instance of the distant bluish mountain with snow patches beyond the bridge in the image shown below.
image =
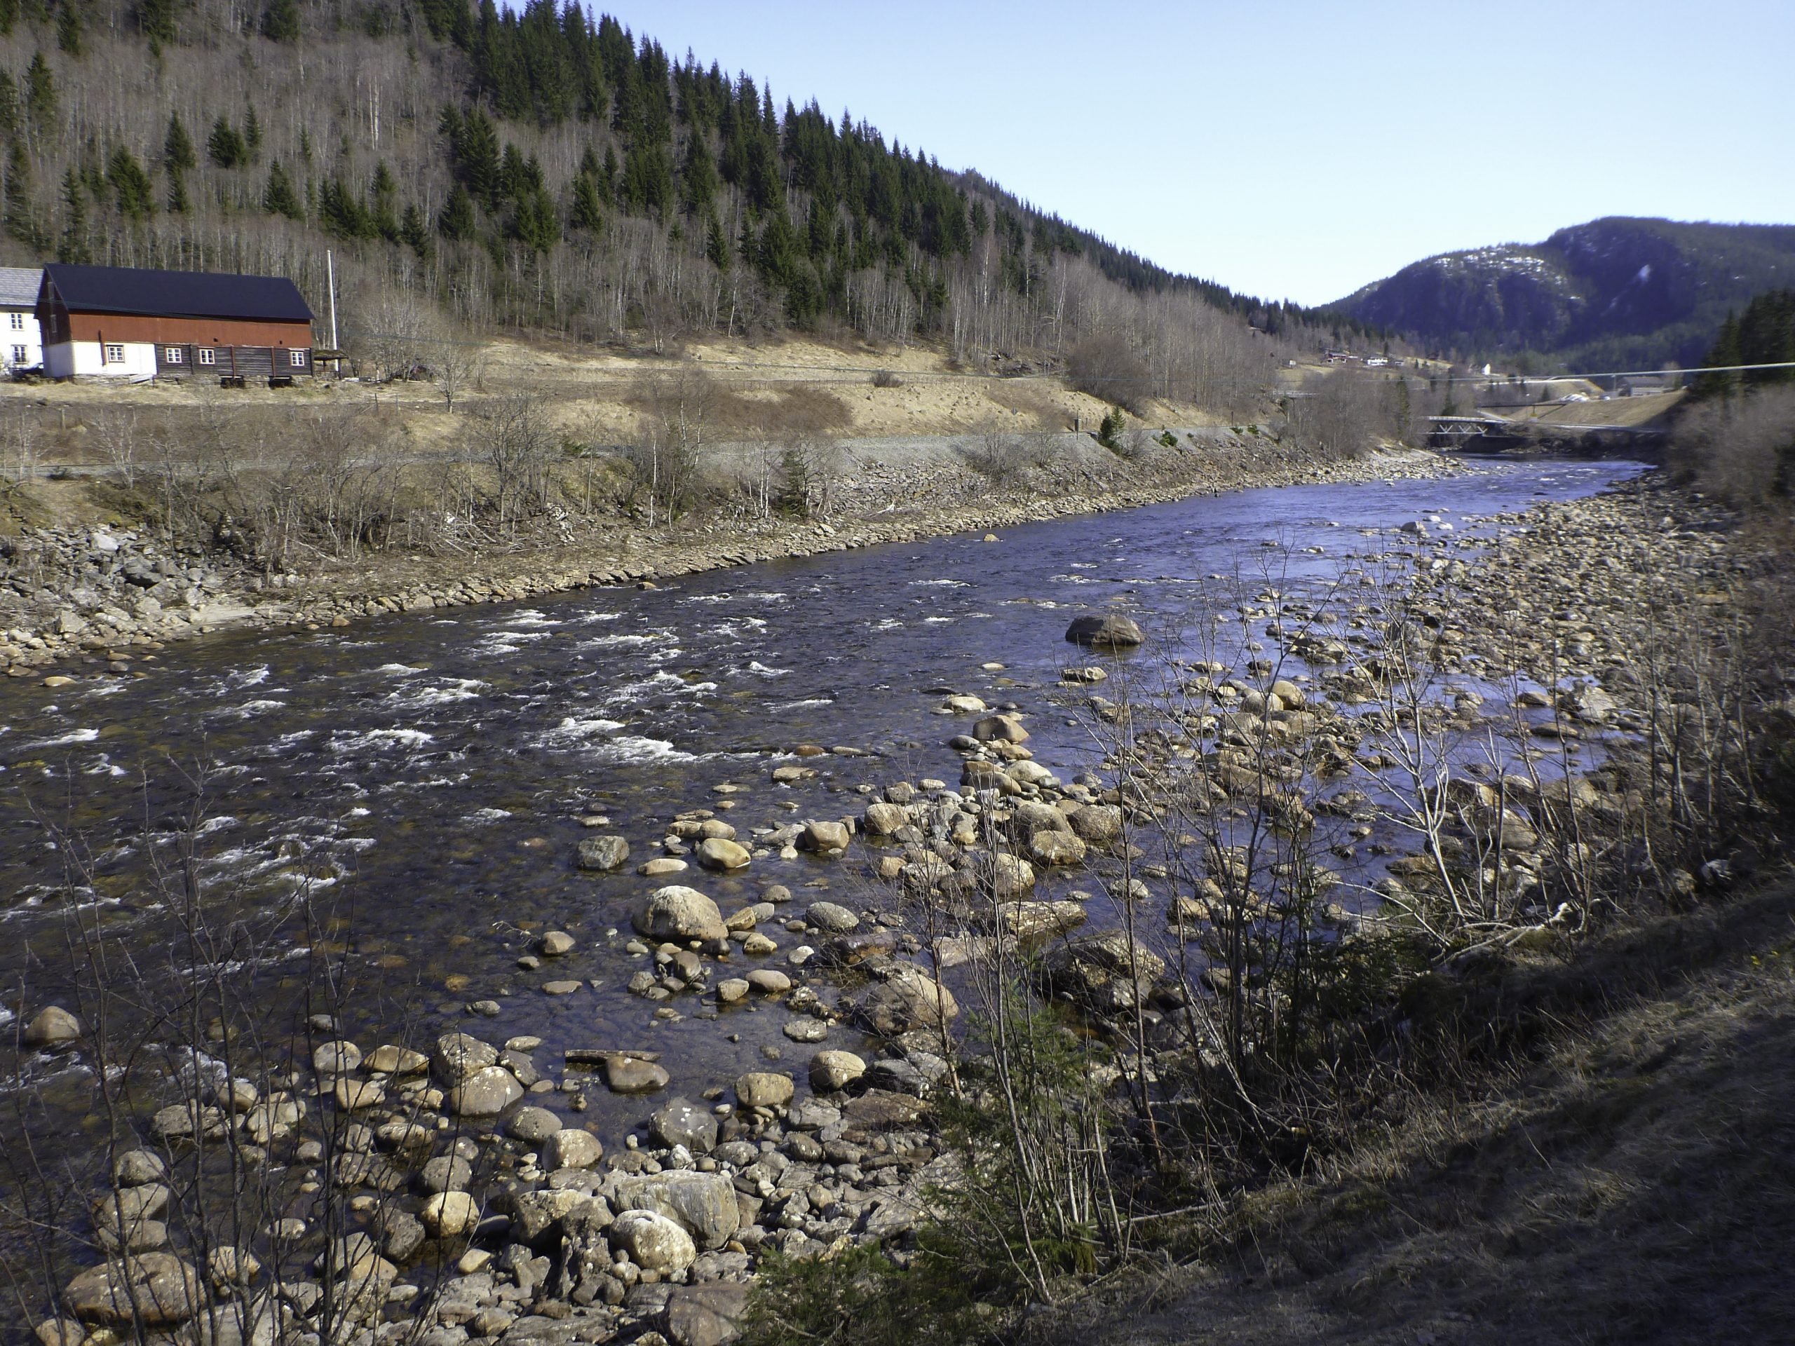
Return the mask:
<path fill-rule="evenodd" d="M 1468 357 L 1576 370 L 1694 364 L 1729 310 L 1795 285 L 1795 224 L 1596 219 L 1441 253 L 1327 305 Z"/>

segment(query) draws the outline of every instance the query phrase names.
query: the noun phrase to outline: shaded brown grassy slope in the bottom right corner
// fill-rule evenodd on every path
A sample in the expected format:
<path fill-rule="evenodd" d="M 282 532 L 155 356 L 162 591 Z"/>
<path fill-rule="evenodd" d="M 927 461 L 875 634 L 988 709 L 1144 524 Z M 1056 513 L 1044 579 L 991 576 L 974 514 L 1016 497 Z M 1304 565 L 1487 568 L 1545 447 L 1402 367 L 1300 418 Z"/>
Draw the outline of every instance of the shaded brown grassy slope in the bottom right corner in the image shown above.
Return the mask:
<path fill-rule="evenodd" d="M 1262 1193 L 1235 1253 L 1050 1339 L 1795 1341 L 1795 883 L 1468 1010 L 1549 1037 L 1477 1102 L 1418 1104 L 1328 1181 Z"/>

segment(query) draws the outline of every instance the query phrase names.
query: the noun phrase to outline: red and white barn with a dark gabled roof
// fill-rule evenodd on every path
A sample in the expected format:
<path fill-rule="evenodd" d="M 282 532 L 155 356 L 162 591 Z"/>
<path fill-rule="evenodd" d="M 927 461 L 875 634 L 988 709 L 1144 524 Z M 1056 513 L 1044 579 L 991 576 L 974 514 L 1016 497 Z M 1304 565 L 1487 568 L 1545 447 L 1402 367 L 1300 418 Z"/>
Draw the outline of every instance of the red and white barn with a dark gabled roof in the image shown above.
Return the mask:
<path fill-rule="evenodd" d="M 203 375 L 241 388 L 312 373 L 312 310 L 285 276 L 50 262 L 38 321 L 54 379 Z"/>

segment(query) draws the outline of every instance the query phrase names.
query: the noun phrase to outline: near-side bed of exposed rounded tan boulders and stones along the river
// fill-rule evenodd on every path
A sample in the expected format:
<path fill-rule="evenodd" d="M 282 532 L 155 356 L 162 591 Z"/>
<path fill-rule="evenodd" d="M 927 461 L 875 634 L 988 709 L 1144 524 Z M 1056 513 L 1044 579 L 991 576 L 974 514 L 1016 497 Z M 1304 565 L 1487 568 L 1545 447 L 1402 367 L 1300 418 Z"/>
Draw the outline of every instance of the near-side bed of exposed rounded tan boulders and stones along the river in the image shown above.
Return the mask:
<path fill-rule="evenodd" d="M 655 1333 L 720 1342 L 770 1249 L 827 1256 L 880 1240 L 901 1258 L 926 1219 L 924 1192 L 957 1172 L 932 1111 L 953 1088 L 966 1019 L 957 967 L 1002 948 L 1038 949 L 1039 994 L 1068 1001 L 1099 1034 L 1145 1021 L 1152 1036 L 1140 1046 L 1151 1053 L 1203 1048 L 1181 1039 L 1179 1010 L 1226 983 L 1179 951 L 1201 949 L 1237 915 L 1226 858 L 1222 870 L 1215 854 L 1197 854 L 1194 869 L 1154 865 L 1160 786 L 1188 781 L 1199 763 L 1206 808 L 1274 808 L 1287 833 L 1319 833 L 1335 847 L 1339 885 L 1323 919 L 1375 939 L 1391 919 L 1371 897 L 1377 885 L 1400 912 L 1429 881 L 1425 865 L 1402 872 L 1402 861 L 1427 858 L 1380 831 L 1391 806 L 1373 799 L 1389 782 L 1377 721 L 1397 673 L 1382 662 L 1389 621 L 1400 614 L 1425 634 L 1411 648 L 1438 673 L 1438 721 L 1508 734 L 1519 711 L 1545 730 L 1526 736 L 1553 752 L 1580 752 L 1585 732 L 1599 747 L 1641 727 L 1626 680 L 1641 612 L 1671 590 L 1703 601 L 1750 567 L 1723 524 L 1700 504 L 1637 488 L 1461 513 L 1450 526 L 1425 513 L 1391 522 L 1366 529 L 1375 538 L 1361 556 L 1343 558 L 1364 574 L 1382 567 L 1384 587 L 1357 603 L 1337 601 L 1337 576 L 1271 598 L 1264 585 L 1235 590 L 1231 619 L 1251 639 L 1226 662 L 1213 648 L 1161 644 L 1151 621 L 1143 630 L 1115 608 L 1070 628 L 1059 617 L 1072 642 L 1055 641 L 1055 677 L 1034 689 L 1032 714 L 941 687 L 930 709 L 951 727 L 948 741 L 917 748 L 921 770 L 871 759 L 831 808 L 799 793 L 838 761 L 820 747 L 763 761 L 752 784 L 740 763 L 713 772 L 695 759 L 686 772 L 707 806 L 677 809 L 653 835 L 587 813 L 567 847 L 583 874 L 634 874 L 628 930 L 530 922 L 513 926 L 528 937 L 508 948 L 546 1001 L 591 994 L 580 958 L 601 944 L 630 969 L 626 992 L 648 1023 L 729 1037 L 749 1023 L 743 1014 L 772 1014 L 777 1041 L 761 1041 L 754 1068 L 693 1079 L 659 1043 L 556 1050 L 538 1034 L 486 1036 L 483 1019 L 515 1014 L 486 996 L 461 1001 L 461 1027 L 427 1041 L 348 1034 L 325 1016 L 307 1025 L 305 1050 L 278 1061 L 224 1070 L 224 1052 L 172 1055 L 162 1107 L 135 1120 L 108 1183 L 90 1193 L 84 1235 L 102 1254 L 131 1253 L 72 1274 L 61 1315 L 39 1337 L 101 1346 L 145 1305 L 169 1326 L 223 1305 L 241 1319 L 237 1337 L 210 1326 L 208 1341 L 267 1341 L 276 1328 L 303 1337 L 328 1319 L 355 1324 L 345 1339 L 363 1332 L 370 1342 L 415 1328 L 440 1346 Z M 1143 642 L 1178 669 L 1179 723 L 1147 723 L 1147 700 L 1124 689 L 1142 659 L 1129 651 Z M 1079 772 L 1043 765 L 1030 745 L 1043 743 L 1050 714 L 1095 732 L 1106 761 Z M 1120 736 L 1125 727 L 1133 738 Z M 1497 809 L 1504 874 L 1535 878 L 1497 885 L 1519 892 L 1510 926 L 1547 939 L 1567 937 L 1547 901 L 1563 806 L 1587 806 L 1594 827 L 1626 804 L 1626 782 L 1601 759 L 1560 761 L 1571 775 L 1558 793 L 1504 784 L 1501 770 L 1493 784 L 1467 772 L 1470 802 Z M 1267 791 L 1267 763 L 1301 770 Z M 775 795 L 790 800 L 790 818 L 738 826 L 734 808 L 754 790 L 790 791 Z M 1273 793 L 1289 800 L 1267 804 Z M 1467 822 L 1445 829 L 1454 860 L 1481 854 Z M 797 890 L 761 878 L 793 863 L 815 876 Z M 1276 887 L 1258 899 L 1258 915 L 1274 913 Z M 1133 937 L 1116 926 L 1124 903 L 1152 915 Z M 445 983 L 463 987 L 467 978 Z M 66 1010 L 25 1009 L 32 1050 L 54 1057 L 90 1043 Z M 583 1120 L 607 1097 L 639 1102 L 609 1145 Z M 171 1211 L 196 1199 L 192 1176 L 219 1152 L 258 1174 L 266 1197 L 230 1240 L 196 1242 L 192 1219 Z"/>

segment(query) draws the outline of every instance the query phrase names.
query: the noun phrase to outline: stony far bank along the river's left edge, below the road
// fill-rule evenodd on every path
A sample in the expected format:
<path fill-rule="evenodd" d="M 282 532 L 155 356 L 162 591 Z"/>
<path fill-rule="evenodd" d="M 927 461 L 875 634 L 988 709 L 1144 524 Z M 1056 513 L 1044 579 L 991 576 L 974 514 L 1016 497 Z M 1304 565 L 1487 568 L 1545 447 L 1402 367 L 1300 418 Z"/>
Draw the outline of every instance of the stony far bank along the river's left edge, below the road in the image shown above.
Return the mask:
<path fill-rule="evenodd" d="M 845 456 L 831 508 L 811 520 L 698 517 L 646 528 L 616 515 L 538 531 L 513 546 L 452 555 L 364 555 L 309 571 L 260 574 L 232 549 L 171 547 L 124 526 L 23 528 L 0 538 L 0 669 L 48 673 L 83 660 L 129 671 L 145 648 L 214 630 L 345 626 L 382 612 L 461 607 L 562 594 L 592 585 L 657 583 L 759 560 L 915 542 L 1023 522 L 1108 513 L 1248 486 L 1425 477 L 1463 470 L 1423 450 L 1314 461 L 1267 436 L 1190 431 L 1178 447 L 1138 447 L 1129 463 L 1084 436 L 996 485 L 959 452 L 910 452 L 887 463 L 876 449 Z M 133 655 L 136 648 L 136 655 Z M 61 675 L 75 671 L 59 669 Z"/>

